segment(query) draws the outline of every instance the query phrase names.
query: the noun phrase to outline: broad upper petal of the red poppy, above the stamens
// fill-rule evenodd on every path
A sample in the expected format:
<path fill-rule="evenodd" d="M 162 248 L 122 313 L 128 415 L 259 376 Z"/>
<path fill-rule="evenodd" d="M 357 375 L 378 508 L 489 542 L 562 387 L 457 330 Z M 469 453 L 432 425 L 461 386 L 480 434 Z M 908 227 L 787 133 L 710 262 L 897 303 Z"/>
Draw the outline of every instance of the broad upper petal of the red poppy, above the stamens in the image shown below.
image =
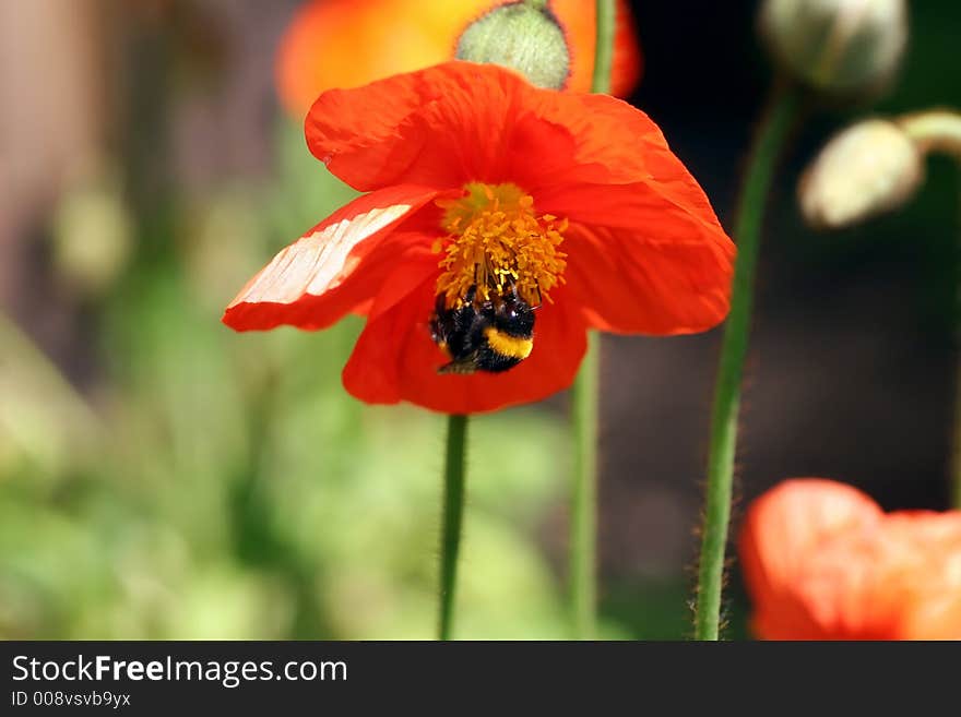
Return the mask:
<path fill-rule="evenodd" d="M 313 155 L 361 191 L 467 181 L 511 181 L 532 192 L 545 183 L 681 181 L 700 191 L 640 110 L 603 95 L 541 89 L 496 64 L 444 62 L 328 91 L 305 131 Z"/>

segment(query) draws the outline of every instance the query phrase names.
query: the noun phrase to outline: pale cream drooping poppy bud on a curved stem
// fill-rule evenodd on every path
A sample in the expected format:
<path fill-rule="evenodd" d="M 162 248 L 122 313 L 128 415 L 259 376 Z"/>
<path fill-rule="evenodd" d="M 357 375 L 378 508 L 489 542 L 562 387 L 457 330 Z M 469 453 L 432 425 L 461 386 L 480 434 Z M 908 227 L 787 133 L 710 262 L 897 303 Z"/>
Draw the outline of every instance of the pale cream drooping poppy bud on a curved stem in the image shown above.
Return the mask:
<path fill-rule="evenodd" d="M 802 177 L 800 207 L 815 226 L 847 226 L 900 206 L 923 176 L 923 155 L 898 124 L 866 120 L 821 150 Z"/>

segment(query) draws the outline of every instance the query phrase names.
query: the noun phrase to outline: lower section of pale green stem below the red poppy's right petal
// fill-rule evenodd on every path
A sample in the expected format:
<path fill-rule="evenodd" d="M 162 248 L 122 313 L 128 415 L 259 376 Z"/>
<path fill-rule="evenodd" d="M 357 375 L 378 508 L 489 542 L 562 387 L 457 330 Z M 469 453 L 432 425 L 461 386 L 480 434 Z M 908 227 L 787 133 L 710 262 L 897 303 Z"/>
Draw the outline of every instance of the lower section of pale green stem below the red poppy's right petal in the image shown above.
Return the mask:
<path fill-rule="evenodd" d="M 595 566 L 597 549 L 597 344 L 588 334 L 588 352 L 574 382 L 574 482 L 571 491 L 570 581 L 574 636 L 594 637 Z"/>

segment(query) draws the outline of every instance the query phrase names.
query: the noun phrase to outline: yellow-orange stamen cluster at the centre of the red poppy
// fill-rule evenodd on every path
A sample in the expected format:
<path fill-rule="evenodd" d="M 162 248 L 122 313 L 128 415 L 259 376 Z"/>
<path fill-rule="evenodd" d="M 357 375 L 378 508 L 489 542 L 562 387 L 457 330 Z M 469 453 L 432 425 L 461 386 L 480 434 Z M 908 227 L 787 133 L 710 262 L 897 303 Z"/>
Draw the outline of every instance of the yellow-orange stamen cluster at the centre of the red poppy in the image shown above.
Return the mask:
<path fill-rule="evenodd" d="M 449 308 L 461 304 L 472 286 L 476 301 L 512 289 L 531 306 L 550 301 L 548 292 L 563 282 L 567 254 L 557 247 L 567 219 L 537 216 L 533 198 L 514 184 L 471 182 L 464 189 L 461 199 L 438 201 L 448 236 L 436 246 L 443 252 L 437 294 Z"/>

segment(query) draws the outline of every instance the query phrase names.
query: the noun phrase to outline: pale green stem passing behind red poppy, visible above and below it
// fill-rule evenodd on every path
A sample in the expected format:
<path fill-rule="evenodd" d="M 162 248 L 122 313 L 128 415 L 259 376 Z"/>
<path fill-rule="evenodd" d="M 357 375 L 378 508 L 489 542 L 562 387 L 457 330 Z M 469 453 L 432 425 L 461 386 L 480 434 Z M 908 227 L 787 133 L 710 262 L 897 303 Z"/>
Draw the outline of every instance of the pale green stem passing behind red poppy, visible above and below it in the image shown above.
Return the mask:
<path fill-rule="evenodd" d="M 597 0 L 597 41 L 592 92 L 610 92 L 614 57 L 614 0 Z M 573 487 L 570 515 L 570 591 L 573 633 L 594 637 L 597 550 L 597 336 L 588 335 L 588 351 L 572 389 Z"/>

